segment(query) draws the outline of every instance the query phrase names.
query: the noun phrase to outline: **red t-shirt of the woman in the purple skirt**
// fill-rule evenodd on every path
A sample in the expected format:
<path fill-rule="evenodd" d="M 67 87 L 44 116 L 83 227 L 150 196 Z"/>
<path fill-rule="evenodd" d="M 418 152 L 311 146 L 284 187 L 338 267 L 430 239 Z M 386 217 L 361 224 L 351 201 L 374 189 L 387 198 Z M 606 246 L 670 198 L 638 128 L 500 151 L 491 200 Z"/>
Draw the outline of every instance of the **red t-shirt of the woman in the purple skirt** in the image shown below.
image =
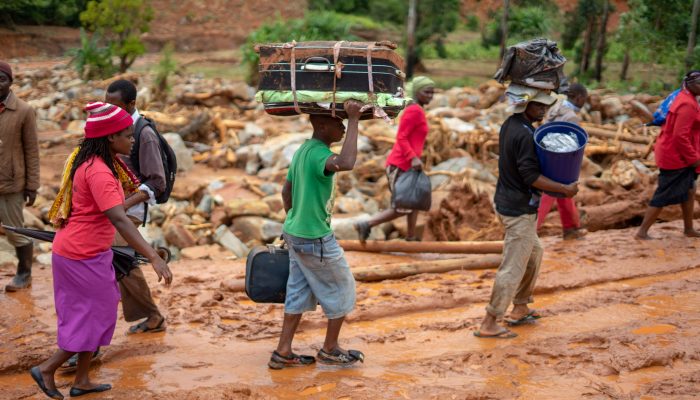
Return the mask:
<path fill-rule="evenodd" d="M 56 233 L 53 251 L 72 260 L 95 257 L 112 246 L 115 229 L 104 214 L 124 204 L 124 191 L 100 157 L 84 162 L 73 177 L 71 213 Z"/>

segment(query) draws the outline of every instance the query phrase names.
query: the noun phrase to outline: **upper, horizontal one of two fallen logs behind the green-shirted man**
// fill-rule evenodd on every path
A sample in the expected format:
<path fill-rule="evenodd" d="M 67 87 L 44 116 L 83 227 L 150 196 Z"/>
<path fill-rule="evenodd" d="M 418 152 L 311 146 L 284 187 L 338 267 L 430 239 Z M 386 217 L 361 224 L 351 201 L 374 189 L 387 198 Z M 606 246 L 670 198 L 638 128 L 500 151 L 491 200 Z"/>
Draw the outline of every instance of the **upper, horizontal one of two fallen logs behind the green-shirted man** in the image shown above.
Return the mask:
<path fill-rule="evenodd" d="M 445 254 L 501 254 L 503 241 L 475 242 L 404 242 L 370 240 L 365 244 L 359 240 L 338 240 L 345 251 L 368 251 L 372 253 L 445 253 Z"/>

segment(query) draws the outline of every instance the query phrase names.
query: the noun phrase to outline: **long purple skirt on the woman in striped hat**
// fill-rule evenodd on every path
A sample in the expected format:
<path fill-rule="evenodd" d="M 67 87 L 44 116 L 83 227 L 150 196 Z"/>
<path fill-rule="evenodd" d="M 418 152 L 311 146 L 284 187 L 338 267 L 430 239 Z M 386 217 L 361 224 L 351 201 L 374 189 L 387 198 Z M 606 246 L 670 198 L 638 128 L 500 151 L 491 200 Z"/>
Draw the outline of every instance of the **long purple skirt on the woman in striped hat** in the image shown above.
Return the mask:
<path fill-rule="evenodd" d="M 87 260 L 52 255 L 58 347 L 95 351 L 112 341 L 121 298 L 109 249 Z"/>

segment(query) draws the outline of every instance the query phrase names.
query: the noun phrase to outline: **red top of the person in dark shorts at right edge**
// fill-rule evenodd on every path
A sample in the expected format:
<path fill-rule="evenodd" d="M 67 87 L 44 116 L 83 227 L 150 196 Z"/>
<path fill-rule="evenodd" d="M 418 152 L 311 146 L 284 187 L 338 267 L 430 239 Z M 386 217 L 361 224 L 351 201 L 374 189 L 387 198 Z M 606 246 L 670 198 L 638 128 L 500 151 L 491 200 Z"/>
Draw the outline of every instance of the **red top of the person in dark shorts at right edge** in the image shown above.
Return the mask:
<path fill-rule="evenodd" d="M 654 157 L 662 169 L 686 168 L 700 159 L 700 105 L 688 89 L 681 90 L 671 105 Z"/>

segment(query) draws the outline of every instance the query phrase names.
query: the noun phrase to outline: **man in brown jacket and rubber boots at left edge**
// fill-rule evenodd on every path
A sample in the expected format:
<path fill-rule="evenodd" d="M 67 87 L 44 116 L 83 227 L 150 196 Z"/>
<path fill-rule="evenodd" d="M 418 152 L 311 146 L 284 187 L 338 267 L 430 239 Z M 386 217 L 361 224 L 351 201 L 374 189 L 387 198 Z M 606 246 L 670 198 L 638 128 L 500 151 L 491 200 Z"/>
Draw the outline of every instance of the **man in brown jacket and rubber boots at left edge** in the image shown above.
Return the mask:
<path fill-rule="evenodd" d="M 39 189 L 39 145 L 34 110 L 10 90 L 12 68 L 0 61 L 0 222 L 8 226 L 24 225 L 24 205 L 31 206 Z M 26 289 L 32 284 L 31 239 L 6 232 L 15 247 L 19 263 L 17 274 L 6 292 Z"/>

